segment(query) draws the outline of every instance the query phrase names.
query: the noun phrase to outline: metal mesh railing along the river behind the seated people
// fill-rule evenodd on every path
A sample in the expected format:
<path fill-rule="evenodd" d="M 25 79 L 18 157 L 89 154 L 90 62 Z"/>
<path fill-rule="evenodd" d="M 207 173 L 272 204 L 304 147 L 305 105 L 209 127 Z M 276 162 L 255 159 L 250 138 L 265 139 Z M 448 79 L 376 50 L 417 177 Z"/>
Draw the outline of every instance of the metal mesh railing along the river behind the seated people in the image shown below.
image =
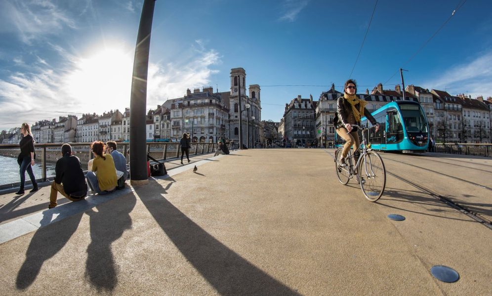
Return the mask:
<path fill-rule="evenodd" d="M 79 157 L 84 173 L 87 171 L 87 163 L 93 158 L 90 150 L 91 143 L 70 143 L 74 155 Z M 33 172 L 38 182 L 50 181 L 55 177 L 56 161 L 62 157 L 61 146 L 63 143 L 35 144 L 36 161 Z M 129 163 L 129 143 L 117 143 L 118 151 L 122 152 Z M 217 143 L 191 143 L 190 155 L 205 154 L 215 151 Z M 18 187 L 20 185 L 19 165 L 17 156 L 20 153 L 18 144 L 0 145 L 0 189 Z M 147 143 L 147 153 L 155 159 L 167 160 L 180 157 L 181 147 L 179 143 Z M 30 184 L 26 172 L 26 185 Z"/>

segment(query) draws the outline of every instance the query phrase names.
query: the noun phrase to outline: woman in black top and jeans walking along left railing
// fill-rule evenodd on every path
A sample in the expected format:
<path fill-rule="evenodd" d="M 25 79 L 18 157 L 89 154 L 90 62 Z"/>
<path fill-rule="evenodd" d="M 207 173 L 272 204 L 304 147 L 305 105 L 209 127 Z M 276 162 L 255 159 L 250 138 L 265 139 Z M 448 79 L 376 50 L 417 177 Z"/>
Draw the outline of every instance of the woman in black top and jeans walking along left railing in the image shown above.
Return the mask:
<path fill-rule="evenodd" d="M 17 162 L 20 166 L 20 176 L 21 185 L 19 191 L 15 194 L 24 194 L 24 184 L 26 183 L 26 171 L 31 178 L 31 183 L 33 184 L 33 189 L 29 192 L 38 191 L 38 183 L 36 183 L 36 178 L 34 177 L 33 168 L 34 165 L 34 138 L 31 134 L 31 127 L 27 123 L 23 123 L 21 126 L 22 140 L 19 142 L 21 152 L 19 157 L 17 157 Z"/>

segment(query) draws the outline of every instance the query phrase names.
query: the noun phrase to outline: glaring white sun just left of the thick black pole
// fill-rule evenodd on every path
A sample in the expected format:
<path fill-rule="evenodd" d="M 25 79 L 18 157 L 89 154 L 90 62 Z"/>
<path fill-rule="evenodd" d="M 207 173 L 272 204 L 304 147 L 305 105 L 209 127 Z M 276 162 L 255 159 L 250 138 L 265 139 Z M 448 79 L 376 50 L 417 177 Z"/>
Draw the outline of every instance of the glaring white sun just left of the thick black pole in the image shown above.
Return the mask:
<path fill-rule="evenodd" d="M 106 48 L 80 58 L 68 75 L 66 93 L 87 107 L 103 112 L 129 107 L 133 59 L 121 49 Z"/>

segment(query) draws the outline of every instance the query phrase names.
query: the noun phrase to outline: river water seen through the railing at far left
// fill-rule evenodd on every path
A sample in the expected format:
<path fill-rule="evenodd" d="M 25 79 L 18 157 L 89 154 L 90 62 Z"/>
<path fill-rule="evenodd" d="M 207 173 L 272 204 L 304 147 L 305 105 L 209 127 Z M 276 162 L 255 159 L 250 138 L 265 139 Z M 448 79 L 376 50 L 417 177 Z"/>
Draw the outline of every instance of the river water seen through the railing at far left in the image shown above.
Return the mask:
<path fill-rule="evenodd" d="M 42 178 L 41 163 L 37 160 L 33 167 L 34 176 L 36 179 Z M 46 165 L 46 177 L 55 176 L 55 166 Z M 26 181 L 29 181 L 29 175 L 26 172 Z M 20 182 L 19 165 L 17 164 L 17 158 L 6 157 L 0 155 L 0 185 Z"/>

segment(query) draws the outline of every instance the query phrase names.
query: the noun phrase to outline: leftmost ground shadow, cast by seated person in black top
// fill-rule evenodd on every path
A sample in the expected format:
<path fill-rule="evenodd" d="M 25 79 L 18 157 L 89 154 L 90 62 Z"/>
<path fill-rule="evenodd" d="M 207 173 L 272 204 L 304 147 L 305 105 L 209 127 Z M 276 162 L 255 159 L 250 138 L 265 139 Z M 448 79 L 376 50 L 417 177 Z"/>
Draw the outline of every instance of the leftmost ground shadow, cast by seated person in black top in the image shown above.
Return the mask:
<path fill-rule="evenodd" d="M 75 214 L 69 219 L 65 219 L 63 223 L 49 224 L 53 215 L 58 214 L 55 209 L 43 212 L 41 227 L 31 239 L 26 252 L 26 260 L 17 273 L 15 285 L 19 290 L 25 290 L 32 285 L 38 277 L 44 261 L 56 255 L 79 227 L 83 213 Z M 43 225 L 47 226 L 43 227 Z"/>

